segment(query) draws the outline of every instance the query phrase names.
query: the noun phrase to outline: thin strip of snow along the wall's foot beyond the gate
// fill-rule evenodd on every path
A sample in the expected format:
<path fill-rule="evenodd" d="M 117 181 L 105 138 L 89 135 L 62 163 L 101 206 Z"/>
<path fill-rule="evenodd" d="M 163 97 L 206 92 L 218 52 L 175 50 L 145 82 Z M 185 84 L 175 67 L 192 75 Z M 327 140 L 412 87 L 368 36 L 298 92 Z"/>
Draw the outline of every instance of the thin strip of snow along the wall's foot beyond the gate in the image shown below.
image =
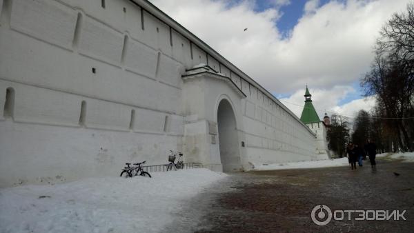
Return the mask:
<path fill-rule="evenodd" d="M 341 159 L 325 159 L 317 161 L 301 161 L 292 163 L 270 163 L 268 165 L 254 164 L 253 171 L 260 170 L 283 170 L 283 169 L 299 169 L 299 168 L 327 168 L 347 166 L 348 158 Z"/>

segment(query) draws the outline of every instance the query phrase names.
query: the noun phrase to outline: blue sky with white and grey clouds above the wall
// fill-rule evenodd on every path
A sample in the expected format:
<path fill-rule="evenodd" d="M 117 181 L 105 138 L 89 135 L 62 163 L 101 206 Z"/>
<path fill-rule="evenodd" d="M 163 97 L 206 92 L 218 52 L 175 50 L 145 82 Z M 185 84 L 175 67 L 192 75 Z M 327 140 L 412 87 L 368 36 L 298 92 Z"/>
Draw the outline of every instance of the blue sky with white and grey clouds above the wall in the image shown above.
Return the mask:
<path fill-rule="evenodd" d="M 359 79 L 378 32 L 410 0 L 150 0 L 298 117 L 305 85 L 319 117 L 370 110 Z M 244 31 L 244 28 L 248 30 Z"/>

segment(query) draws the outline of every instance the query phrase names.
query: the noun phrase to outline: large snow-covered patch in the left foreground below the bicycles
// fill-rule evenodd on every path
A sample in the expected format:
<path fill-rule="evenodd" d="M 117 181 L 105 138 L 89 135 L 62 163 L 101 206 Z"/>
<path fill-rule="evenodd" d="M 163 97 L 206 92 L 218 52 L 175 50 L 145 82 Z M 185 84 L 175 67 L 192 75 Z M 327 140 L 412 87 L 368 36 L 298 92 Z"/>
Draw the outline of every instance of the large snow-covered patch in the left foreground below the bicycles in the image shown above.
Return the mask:
<path fill-rule="evenodd" d="M 186 200 L 226 177 L 207 169 L 151 175 L 1 188 L 0 232 L 159 232 Z"/>

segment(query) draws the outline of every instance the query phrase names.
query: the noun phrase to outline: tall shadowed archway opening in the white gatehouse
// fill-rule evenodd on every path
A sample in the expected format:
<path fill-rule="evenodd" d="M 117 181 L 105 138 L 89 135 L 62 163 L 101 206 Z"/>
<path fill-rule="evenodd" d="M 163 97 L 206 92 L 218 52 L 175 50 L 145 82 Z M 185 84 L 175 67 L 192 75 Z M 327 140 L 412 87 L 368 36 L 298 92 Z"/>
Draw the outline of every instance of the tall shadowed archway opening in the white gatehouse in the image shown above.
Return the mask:
<path fill-rule="evenodd" d="M 223 172 L 232 172 L 240 165 L 240 152 L 235 112 L 226 99 L 222 99 L 219 103 L 217 127 Z"/>

